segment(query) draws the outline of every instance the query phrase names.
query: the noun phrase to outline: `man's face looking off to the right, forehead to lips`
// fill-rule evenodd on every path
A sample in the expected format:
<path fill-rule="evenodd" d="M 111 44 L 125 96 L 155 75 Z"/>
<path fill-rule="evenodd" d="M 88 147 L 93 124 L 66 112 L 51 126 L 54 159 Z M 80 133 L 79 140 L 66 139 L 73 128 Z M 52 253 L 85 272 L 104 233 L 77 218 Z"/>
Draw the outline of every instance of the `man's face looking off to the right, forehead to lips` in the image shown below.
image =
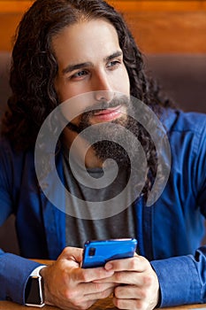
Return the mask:
<path fill-rule="evenodd" d="M 53 38 L 52 46 L 58 64 L 55 87 L 60 102 L 94 92 L 94 102 L 88 106 L 96 105 L 99 110 L 90 114 L 91 125 L 126 118 L 125 105 L 110 106 L 115 93 L 129 97 L 130 85 L 118 35 L 109 22 L 93 19 L 65 27 Z M 103 109 L 102 100 L 108 103 Z M 78 126 L 80 120 L 81 115 L 72 123 Z"/>

